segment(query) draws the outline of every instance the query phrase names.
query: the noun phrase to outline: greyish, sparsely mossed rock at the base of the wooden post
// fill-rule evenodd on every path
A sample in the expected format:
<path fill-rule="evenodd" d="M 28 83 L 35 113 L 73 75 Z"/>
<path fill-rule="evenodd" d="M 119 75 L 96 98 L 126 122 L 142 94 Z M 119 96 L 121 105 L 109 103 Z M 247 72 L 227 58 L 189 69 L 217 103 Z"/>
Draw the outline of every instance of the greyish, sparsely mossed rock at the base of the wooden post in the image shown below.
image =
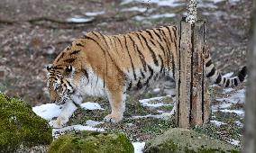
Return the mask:
<path fill-rule="evenodd" d="M 212 139 L 194 130 L 170 129 L 146 142 L 145 153 L 216 153 L 239 152 L 232 145 Z"/>

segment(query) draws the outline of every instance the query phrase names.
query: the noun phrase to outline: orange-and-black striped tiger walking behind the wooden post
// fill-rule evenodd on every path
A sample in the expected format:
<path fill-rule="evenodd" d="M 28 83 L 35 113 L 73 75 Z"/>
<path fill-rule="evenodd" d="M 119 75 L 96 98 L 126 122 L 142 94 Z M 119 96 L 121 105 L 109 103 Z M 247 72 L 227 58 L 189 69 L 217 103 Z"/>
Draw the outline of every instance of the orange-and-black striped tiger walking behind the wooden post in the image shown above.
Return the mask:
<path fill-rule="evenodd" d="M 128 91 L 142 89 L 163 76 L 175 78 L 178 48 L 176 26 L 116 35 L 90 31 L 72 41 L 47 67 L 50 102 L 62 104 L 53 126 L 65 125 L 87 95 L 108 99 L 111 113 L 104 121 L 122 121 Z M 224 87 L 243 82 L 246 66 L 237 76 L 222 76 L 212 63 L 208 45 L 205 48 L 206 77 Z"/>

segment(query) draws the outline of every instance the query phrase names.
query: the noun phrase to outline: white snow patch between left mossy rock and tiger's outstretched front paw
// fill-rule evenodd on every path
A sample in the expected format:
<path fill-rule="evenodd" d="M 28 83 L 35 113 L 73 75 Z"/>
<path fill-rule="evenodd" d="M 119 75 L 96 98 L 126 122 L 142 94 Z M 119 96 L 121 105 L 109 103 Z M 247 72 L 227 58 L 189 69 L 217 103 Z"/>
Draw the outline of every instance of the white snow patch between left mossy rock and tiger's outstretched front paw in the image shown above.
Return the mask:
<path fill-rule="evenodd" d="M 32 111 L 41 116 L 41 118 L 50 121 L 52 118 L 59 116 L 61 112 L 60 107 L 55 103 L 47 103 L 32 107 Z"/>

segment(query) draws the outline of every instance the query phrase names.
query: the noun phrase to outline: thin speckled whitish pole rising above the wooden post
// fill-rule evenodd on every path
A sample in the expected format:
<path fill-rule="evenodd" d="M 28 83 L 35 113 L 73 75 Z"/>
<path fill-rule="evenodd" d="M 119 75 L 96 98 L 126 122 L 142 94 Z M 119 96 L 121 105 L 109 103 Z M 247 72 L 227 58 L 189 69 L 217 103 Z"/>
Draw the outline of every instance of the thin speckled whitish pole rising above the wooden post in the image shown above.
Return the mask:
<path fill-rule="evenodd" d="M 186 22 L 190 24 L 197 22 L 197 0 L 187 0 Z"/>

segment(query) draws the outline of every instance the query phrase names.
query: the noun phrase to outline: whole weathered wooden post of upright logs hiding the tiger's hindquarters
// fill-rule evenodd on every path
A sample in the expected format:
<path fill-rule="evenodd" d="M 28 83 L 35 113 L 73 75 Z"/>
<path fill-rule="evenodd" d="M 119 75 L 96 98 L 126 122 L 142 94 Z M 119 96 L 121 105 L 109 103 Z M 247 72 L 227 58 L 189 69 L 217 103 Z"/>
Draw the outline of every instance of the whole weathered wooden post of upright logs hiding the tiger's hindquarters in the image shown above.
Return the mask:
<path fill-rule="evenodd" d="M 203 21 L 190 24 L 183 19 L 180 22 L 176 67 L 176 121 L 180 128 L 203 125 L 210 116 L 203 56 L 205 26 Z"/>

